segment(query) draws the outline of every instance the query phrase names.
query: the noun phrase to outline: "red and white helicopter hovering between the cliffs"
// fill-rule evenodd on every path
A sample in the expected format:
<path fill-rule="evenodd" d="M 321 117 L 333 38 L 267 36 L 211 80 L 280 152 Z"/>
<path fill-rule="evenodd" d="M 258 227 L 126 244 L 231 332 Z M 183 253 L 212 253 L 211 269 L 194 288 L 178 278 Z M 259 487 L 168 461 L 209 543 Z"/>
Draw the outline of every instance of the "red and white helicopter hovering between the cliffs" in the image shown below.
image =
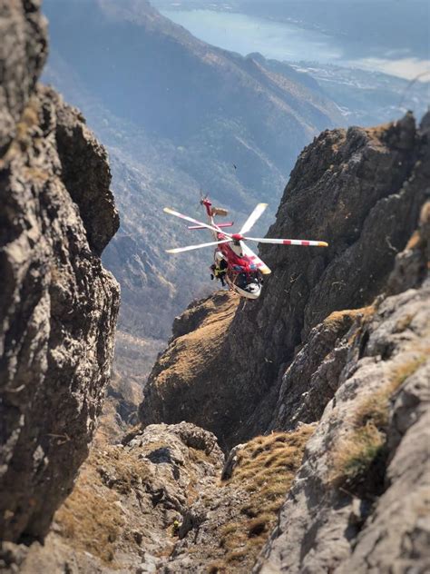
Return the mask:
<path fill-rule="evenodd" d="M 210 247 L 216 245 L 214 252 L 214 261 L 217 268 L 225 270 L 225 280 L 230 289 L 239 293 L 240 296 L 247 299 L 257 299 L 261 293 L 262 277 L 269 275 L 271 272 L 265 262 L 259 259 L 259 256 L 252 252 L 246 241 L 257 243 L 278 243 L 281 245 L 301 245 L 313 247 L 327 247 L 326 242 L 308 241 L 304 239 L 269 239 L 267 237 L 248 237 L 248 233 L 254 223 L 257 222 L 261 214 L 265 211 L 268 204 L 259 203 L 254 211 L 249 215 L 247 221 L 242 225 L 239 233 L 227 233 L 222 231 L 226 227 L 232 227 L 233 223 L 215 223 L 216 215 L 227 215 L 224 209 L 212 207 L 208 198 L 200 202 L 206 209 L 208 223 L 199 222 L 188 215 L 175 212 L 169 207 L 164 208 L 165 213 L 170 213 L 176 217 L 181 217 L 187 222 L 194 223 L 188 229 L 209 229 L 215 241 L 209 243 L 200 243 L 199 245 L 189 245 L 188 247 L 176 247 L 175 249 L 166 250 L 168 253 L 181 253 L 200 249 L 200 247 Z"/>

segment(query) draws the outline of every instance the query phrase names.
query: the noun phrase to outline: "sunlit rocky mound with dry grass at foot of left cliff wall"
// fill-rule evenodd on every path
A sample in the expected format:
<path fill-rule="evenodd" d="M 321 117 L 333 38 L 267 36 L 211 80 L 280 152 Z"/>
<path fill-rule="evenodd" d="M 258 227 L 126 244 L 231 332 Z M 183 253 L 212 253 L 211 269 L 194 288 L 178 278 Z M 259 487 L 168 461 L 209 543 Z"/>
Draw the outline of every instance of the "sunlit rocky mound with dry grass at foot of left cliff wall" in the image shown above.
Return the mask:
<path fill-rule="evenodd" d="M 151 425 L 124 444 L 94 449 L 44 546 L 14 544 L 0 567 L 27 574 L 161 571 L 200 495 L 217 490 L 223 456 L 192 424 Z"/>

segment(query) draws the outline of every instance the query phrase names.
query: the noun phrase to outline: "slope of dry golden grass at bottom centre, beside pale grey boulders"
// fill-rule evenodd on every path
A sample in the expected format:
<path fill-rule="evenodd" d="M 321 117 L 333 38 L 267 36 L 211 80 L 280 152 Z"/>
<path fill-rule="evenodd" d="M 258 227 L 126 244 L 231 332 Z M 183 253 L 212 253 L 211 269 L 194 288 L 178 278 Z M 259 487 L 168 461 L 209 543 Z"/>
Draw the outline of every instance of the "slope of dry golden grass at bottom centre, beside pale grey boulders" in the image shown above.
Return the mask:
<path fill-rule="evenodd" d="M 217 488 L 200 492 L 184 515 L 179 540 L 161 571 L 249 572 L 276 524 L 314 430 L 301 425 L 235 447 Z"/>

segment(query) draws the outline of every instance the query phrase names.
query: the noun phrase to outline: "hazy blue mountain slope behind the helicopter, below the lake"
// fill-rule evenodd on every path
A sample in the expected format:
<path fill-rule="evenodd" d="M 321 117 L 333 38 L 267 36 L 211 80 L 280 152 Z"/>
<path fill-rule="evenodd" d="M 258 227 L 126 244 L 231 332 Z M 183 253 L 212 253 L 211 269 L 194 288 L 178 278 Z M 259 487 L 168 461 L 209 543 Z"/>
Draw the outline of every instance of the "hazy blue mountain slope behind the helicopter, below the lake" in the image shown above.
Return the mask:
<path fill-rule="evenodd" d="M 53 44 L 46 78 L 110 150 L 122 232 L 104 261 L 122 284 L 121 328 L 165 341 L 190 291 L 209 292 L 210 252 L 166 257 L 188 237 L 161 208 L 201 216 L 200 190 L 233 219 L 262 198 L 274 206 L 298 150 L 342 115 L 318 90 L 200 42 L 147 2 L 84 5 L 44 3 Z"/>

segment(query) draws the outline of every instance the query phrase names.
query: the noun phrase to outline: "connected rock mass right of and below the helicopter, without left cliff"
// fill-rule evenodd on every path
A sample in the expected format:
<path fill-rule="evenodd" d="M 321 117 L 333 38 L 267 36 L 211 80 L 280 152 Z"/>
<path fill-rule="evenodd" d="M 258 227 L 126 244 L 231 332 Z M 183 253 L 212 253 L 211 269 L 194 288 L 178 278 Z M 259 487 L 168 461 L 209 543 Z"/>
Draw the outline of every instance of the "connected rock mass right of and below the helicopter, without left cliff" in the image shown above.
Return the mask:
<path fill-rule="evenodd" d="M 309 226 L 329 251 L 266 250 L 259 302 L 192 303 L 143 428 L 96 445 L 44 546 L 4 544 L 8 571 L 430 567 L 427 127 L 406 115 L 302 153 L 271 233 Z"/>

